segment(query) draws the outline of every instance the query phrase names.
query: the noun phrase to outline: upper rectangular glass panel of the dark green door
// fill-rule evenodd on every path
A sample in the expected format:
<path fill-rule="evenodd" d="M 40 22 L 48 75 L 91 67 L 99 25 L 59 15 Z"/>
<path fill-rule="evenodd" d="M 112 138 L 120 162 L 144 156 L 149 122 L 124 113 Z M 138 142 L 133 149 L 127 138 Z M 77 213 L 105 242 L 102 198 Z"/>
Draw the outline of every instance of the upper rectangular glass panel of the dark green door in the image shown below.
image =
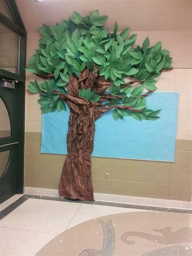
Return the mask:
<path fill-rule="evenodd" d="M 18 74 L 19 35 L 0 23 L 0 68 Z"/>

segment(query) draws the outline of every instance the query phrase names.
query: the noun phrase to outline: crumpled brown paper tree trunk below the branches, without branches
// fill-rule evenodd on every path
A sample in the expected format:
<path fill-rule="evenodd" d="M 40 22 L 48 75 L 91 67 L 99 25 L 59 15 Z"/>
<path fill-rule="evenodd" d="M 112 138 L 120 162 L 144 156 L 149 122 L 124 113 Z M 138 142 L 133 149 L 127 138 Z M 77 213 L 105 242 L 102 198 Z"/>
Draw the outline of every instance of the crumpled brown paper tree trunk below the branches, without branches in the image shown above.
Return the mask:
<path fill-rule="evenodd" d="M 59 186 L 61 196 L 71 199 L 94 200 L 90 158 L 93 151 L 94 134 L 94 116 L 89 109 L 82 110 L 81 114 L 70 109 L 67 157 Z"/>

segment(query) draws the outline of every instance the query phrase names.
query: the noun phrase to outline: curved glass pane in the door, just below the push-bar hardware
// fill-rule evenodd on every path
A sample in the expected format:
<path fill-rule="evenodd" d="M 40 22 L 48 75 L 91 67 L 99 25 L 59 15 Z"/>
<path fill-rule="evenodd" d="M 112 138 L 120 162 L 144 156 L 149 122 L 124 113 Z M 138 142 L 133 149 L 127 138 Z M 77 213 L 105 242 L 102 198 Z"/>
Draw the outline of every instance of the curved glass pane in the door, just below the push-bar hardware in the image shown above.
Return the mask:
<path fill-rule="evenodd" d="M 11 122 L 9 113 L 0 98 L 0 138 L 11 136 Z"/>

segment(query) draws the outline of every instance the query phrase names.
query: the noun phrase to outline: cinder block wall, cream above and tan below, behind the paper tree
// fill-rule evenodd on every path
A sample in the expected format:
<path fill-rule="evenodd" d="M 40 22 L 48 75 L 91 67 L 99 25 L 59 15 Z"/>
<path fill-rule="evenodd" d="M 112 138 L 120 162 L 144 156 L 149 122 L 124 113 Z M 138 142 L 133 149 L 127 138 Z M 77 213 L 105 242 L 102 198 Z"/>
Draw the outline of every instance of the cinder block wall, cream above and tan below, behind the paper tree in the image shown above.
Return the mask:
<path fill-rule="evenodd" d="M 150 37 L 150 34 L 153 36 L 153 41 L 162 39 L 164 42 L 167 36 L 164 32 L 157 32 L 157 34 L 145 32 L 145 36 Z M 38 38 L 38 33 L 28 34 L 27 58 L 30 58 L 34 54 L 34 49 L 38 47 Z M 169 49 L 171 50 L 170 46 Z M 177 53 L 175 50 L 174 52 Z M 37 77 L 27 73 L 26 84 L 34 79 Z M 92 157 L 94 192 L 180 201 L 191 200 L 192 69 L 174 68 L 162 73 L 158 77 L 157 86 L 158 91 L 179 92 L 175 162 Z M 29 94 L 26 91 L 25 186 L 58 189 L 65 156 L 40 154 L 41 111 L 40 105 L 36 102 L 37 99 L 38 95 Z M 109 180 L 105 180 L 105 173 L 110 174 Z"/>

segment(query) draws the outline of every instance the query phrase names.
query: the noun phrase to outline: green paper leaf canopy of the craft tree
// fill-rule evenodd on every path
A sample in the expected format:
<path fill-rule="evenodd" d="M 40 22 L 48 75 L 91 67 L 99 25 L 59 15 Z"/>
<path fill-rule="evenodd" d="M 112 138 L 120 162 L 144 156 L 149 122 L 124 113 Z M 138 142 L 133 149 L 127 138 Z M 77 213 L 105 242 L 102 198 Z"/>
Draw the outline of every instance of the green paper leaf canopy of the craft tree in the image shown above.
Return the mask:
<path fill-rule="evenodd" d="M 41 83 L 35 80 L 28 85 L 30 92 L 40 94 L 42 113 L 66 110 L 71 77 L 81 83 L 88 69 L 100 77 L 98 86 L 94 82 L 90 87 L 79 86 L 79 98 L 93 102 L 103 112 L 113 109 L 115 120 L 124 116 L 139 121 L 159 118 L 160 110 L 147 109 L 146 97 L 157 89 L 155 78 L 162 70 L 172 68 L 169 51 L 162 49 L 160 41 L 149 46 L 148 37 L 142 46 L 133 47 L 137 34 L 129 36 L 129 28 L 117 33 L 116 22 L 110 32 L 104 28 L 107 19 L 98 10 L 86 17 L 74 11 L 68 21 L 39 28 L 39 49 L 28 61 L 26 70 L 45 78 Z M 128 83 L 127 77 L 132 79 Z M 143 93 L 144 90 L 147 92 Z"/>

